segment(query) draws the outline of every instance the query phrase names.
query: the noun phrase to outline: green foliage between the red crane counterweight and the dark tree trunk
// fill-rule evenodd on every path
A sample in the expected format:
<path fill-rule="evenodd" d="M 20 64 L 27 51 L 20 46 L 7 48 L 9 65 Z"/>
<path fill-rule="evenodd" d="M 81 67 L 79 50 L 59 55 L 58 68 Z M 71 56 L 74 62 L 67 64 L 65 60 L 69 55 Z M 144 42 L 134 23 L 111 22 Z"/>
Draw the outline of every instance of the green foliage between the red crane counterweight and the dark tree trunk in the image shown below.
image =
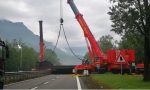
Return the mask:
<path fill-rule="evenodd" d="M 135 50 L 135 62 L 142 63 L 144 59 L 144 37 L 141 34 L 128 33 L 119 42 L 120 49 Z"/>

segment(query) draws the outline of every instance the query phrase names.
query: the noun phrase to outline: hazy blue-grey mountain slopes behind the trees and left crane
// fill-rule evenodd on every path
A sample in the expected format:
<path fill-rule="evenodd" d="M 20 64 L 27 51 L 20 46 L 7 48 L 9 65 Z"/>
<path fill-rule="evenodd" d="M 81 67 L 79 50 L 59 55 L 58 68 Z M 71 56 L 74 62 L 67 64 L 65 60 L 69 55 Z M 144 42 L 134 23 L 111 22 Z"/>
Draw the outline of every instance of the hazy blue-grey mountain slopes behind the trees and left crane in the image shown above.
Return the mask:
<path fill-rule="evenodd" d="M 39 36 L 35 35 L 22 22 L 0 20 L 0 38 L 9 42 L 14 39 L 17 41 L 21 40 L 27 46 L 33 47 L 39 52 Z M 51 42 L 44 41 L 44 43 L 46 48 L 54 48 Z M 81 61 L 76 59 L 74 56 L 58 48 L 55 52 L 63 65 L 76 65 L 81 63 Z"/>

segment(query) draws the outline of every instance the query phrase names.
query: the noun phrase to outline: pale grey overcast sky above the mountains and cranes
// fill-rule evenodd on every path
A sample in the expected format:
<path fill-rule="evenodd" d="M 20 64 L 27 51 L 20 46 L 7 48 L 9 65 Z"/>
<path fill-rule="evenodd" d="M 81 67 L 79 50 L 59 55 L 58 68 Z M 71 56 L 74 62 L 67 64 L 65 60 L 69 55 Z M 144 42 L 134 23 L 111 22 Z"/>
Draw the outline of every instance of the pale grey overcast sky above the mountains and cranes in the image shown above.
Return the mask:
<path fill-rule="evenodd" d="M 81 14 L 83 14 L 91 32 L 96 39 L 111 34 L 115 39 L 119 36 L 110 32 L 109 0 L 74 0 Z M 64 28 L 70 45 L 85 47 L 82 29 L 76 21 L 74 14 L 63 0 Z M 60 0 L 0 0 L 0 19 L 13 22 L 23 22 L 33 33 L 39 35 L 39 20 L 43 20 L 44 39 L 55 44 L 60 18 Z M 58 47 L 63 49 L 66 42 L 61 33 Z"/>

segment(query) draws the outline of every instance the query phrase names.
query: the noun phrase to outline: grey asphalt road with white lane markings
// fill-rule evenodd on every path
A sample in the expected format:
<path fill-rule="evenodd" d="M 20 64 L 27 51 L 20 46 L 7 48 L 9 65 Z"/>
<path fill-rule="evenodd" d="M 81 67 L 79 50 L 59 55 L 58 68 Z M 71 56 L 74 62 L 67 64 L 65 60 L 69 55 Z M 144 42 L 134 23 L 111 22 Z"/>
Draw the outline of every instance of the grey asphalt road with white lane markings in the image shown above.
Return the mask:
<path fill-rule="evenodd" d="M 48 75 L 5 85 L 4 89 L 86 89 L 78 76 Z"/>

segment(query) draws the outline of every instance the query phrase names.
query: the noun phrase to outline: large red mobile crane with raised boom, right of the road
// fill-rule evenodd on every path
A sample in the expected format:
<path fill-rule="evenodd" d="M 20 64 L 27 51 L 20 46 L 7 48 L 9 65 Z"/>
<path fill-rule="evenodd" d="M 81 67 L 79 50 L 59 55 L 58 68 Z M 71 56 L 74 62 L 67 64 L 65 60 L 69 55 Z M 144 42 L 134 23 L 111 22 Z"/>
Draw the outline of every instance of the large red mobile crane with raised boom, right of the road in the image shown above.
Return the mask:
<path fill-rule="evenodd" d="M 74 68 L 75 71 L 113 71 L 120 68 L 129 70 L 130 63 L 134 62 L 135 59 L 134 50 L 108 50 L 108 53 L 104 54 L 92 35 L 88 25 L 86 24 L 83 15 L 79 12 L 73 0 L 68 0 L 68 4 L 72 8 L 75 17 L 84 32 L 90 59 L 92 60 L 91 64 L 85 61 L 85 63 L 81 65 L 76 65 Z"/>

